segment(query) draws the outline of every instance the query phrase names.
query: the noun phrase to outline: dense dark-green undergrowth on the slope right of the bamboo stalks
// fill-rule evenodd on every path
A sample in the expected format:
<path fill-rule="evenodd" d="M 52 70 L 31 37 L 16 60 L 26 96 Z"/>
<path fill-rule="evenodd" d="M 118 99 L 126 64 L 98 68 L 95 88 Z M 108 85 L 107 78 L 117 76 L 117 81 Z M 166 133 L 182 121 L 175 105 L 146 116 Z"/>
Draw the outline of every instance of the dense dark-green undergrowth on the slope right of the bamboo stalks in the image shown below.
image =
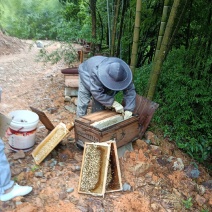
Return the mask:
<path fill-rule="evenodd" d="M 155 121 L 164 136 L 203 162 L 212 152 L 211 59 L 207 59 L 204 69 L 190 67 L 186 59 L 190 54 L 181 48 L 167 58 L 155 96 L 160 105 Z"/>

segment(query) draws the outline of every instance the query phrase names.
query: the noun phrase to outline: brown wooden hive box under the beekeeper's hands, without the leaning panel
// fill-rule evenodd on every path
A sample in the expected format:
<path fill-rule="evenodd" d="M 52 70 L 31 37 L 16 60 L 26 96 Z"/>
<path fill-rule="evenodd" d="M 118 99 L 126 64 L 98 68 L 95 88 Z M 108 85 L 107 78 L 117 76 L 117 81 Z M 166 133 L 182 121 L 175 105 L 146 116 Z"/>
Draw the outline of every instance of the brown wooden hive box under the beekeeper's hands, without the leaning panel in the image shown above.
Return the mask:
<path fill-rule="evenodd" d="M 136 140 L 139 136 L 140 125 L 138 117 L 134 116 L 106 128 L 98 129 L 95 123 L 117 117 L 116 112 L 101 111 L 91 113 L 75 120 L 75 139 L 85 142 L 104 142 L 116 140 L 117 147 Z M 118 115 L 121 116 L 121 115 Z"/>

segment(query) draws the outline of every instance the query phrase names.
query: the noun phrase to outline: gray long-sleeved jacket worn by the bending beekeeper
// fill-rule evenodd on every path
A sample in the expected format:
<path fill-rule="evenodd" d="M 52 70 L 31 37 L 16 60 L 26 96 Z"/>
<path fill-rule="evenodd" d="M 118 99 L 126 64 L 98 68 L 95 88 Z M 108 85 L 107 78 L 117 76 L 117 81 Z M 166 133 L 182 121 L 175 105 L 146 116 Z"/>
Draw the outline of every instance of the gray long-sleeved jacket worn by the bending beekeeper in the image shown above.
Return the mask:
<path fill-rule="evenodd" d="M 98 65 L 105 59 L 103 56 L 94 56 L 80 64 L 79 75 L 83 85 L 91 92 L 93 98 L 101 104 L 111 107 L 114 102 L 114 96 L 117 91 L 111 91 L 106 88 L 97 77 Z M 133 111 L 135 108 L 135 86 L 131 83 L 125 90 L 124 95 L 124 110 Z"/>

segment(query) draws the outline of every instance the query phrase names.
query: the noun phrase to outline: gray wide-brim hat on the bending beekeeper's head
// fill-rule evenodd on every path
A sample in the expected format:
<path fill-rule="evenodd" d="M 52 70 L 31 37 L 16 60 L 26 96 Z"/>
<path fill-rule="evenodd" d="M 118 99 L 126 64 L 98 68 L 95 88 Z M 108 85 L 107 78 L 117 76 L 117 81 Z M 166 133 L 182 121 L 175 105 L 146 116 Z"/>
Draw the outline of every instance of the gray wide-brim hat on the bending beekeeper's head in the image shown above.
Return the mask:
<path fill-rule="evenodd" d="M 132 82 L 130 67 L 119 58 L 108 57 L 97 66 L 97 69 L 100 82 L 110 90 L 124 90 Z"/>

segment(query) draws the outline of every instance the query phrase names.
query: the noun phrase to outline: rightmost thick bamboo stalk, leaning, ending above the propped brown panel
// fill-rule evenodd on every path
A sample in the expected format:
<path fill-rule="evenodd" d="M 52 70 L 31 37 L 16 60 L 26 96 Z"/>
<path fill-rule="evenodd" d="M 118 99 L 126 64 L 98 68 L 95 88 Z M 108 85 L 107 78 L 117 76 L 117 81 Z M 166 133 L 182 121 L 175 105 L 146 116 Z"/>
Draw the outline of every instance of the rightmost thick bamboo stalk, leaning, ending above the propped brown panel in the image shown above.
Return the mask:
<path fill-rule="evenodd" d="M 181 0 L 174 0 L 174 3 L 172 5 L 172 9 L 171 9 L 171 13 L 170 13 L 170 16 L 169 16 L 169 19 L 168 19 L 168 23 L 166 25 L 164 37 L 163 37 L 163 40 L 162 40 L 162 43 L 161 43 L 160 51 L 159 51 L 157 57 L 154 60 L 155 65 L 153 65 L 153 71 L 152 71 L 152 74 L 150 76 L 150 86 L 149 86 L 149 90 L 148 90 L 148 94 L 147 94 L 147 98 L 150 99 L 150 100 L 153 99 L 155 89 L 156 89 L 156 86 L 157 86 L 157 82 L 158 82 L 160 72 L 161 72 L 161 69 L 162 69 L 163 61 L 164 61 L 164 58 L 165 58 L 167 51 L 168 51 L 168 44 L 169 44 L 170 38 L 172 36 L 174 22 L 175 22 L 175 19 L 177 17 L 177 10 L 178 10 L 178 7 L 180 6 L 180 1 Z"/>

